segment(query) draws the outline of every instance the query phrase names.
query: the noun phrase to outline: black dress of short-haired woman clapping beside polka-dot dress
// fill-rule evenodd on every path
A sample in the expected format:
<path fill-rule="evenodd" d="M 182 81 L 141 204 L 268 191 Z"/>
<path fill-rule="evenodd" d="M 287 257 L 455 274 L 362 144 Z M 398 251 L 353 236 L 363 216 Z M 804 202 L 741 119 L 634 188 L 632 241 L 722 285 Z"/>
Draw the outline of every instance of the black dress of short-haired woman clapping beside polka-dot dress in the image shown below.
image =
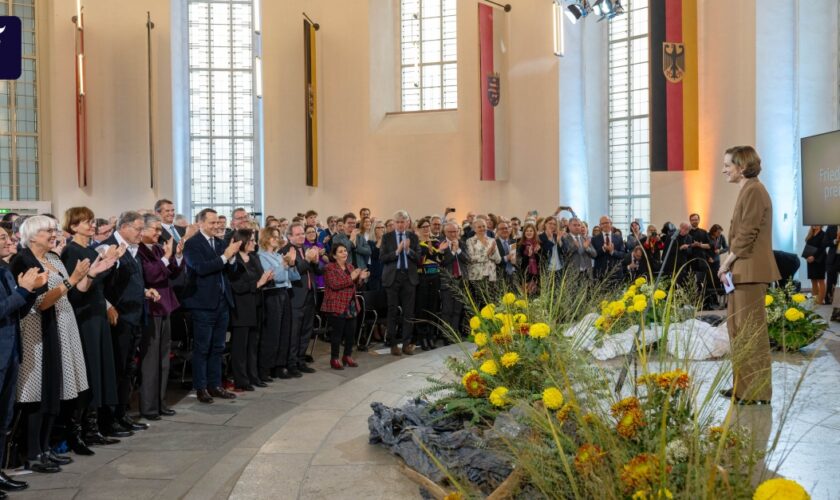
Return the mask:
<path fill-rule="evenodd" d="M 70 241 L 61 252 L 61 261 L 67 272 L 72 274 L 80 260 L 90 259 L 93 263 L 98 255 L 93 248 Z M 111 269 L 97 275 L 87 292 L 73 289 L 68 296 L 79 324 L 90 385 L 89 407 L 93 409 L 117 404 L 114 347 L 104 291 L 105 282 L 110 277 Z"/>

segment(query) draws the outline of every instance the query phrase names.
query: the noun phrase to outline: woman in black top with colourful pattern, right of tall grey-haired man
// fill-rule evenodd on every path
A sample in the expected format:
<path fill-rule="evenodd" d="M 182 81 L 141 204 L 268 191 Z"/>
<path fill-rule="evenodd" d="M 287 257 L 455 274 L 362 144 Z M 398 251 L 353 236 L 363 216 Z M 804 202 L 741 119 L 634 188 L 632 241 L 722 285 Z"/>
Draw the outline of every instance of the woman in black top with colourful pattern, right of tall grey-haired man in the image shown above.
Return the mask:
<path fill-rule="evenodd" d="M 440 313 L 440 266 L 443 253 L 438 249 L 440 242 L 432 239 L 431 220 L 428 217 L 417 222 L 417 238 L 420 240 L 420 264 L 417 266 L 420 282 L 417 285 L 414 310 L 420 323 L 414 331 L 420 337 L 420 347 L 428 351 L 435 346 L 434 334 L 437 328 L 434 322 Z"/>

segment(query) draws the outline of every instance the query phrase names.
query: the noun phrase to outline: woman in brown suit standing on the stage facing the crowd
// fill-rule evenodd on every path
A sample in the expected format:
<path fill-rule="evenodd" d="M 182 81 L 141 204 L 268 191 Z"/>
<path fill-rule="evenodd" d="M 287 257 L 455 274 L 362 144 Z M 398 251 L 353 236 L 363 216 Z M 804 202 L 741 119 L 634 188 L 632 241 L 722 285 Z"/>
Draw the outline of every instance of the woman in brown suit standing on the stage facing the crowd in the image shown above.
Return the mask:
<path fill-rule="evenodd" d="M 723 173 L 738 184 L 729 224 L 729 254 L 718 277 L 727 282 L 732 272 L 735 291 L 729 297 L 726 327 L 732 352 L 732 389 L 721 395 L 738 404 L 768 404 L 772 395 L 770 340 L 764 295 L 767 285 L 780 278 L 773 257 L 773 204 L 758 180 L 761 158 L 752 146 L 726 150 Z"/>

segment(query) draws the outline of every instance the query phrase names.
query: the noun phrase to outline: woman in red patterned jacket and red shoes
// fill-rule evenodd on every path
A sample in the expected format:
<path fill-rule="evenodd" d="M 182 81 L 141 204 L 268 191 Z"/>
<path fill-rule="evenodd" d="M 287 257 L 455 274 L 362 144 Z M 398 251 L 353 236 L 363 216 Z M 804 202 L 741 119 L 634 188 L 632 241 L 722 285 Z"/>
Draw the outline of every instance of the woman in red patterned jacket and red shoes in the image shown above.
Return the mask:
<path fill-rule="evenodd" d="M 324 267 L 324 302 L 321 304 L 321 312 L 328 315 L 332 344 L 330 366 L 335 370 L 343 370 L 342 365 L 359 366 L 350 357 L 353 353 L 356 316 L 359 314 L 356 290 L 370 275 L 366 269 L 354 269 L 353 265 L 347 262 L 348 255 L 347 247 L 336 243 L 330 248 L 330 263 Z M 342 340 L 344 355 L 339 363 L 338 349 Z"/>

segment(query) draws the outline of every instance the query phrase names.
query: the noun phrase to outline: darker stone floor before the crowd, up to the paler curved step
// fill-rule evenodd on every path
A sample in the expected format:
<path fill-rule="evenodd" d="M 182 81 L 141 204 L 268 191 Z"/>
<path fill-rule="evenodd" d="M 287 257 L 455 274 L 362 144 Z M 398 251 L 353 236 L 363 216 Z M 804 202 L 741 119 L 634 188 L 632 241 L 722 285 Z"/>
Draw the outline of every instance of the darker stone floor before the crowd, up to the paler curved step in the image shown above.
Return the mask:
<path fill-rule="evenodd" d="M 356 353 L 359 368 L 329 368 L 329 346 L 319 342 L 318 371 L 277 380 L 265 389 L 238 393 L 232 401 L 201 404 L 193 393 L 170 383 L 168 400 L 178 412 L 149 422 L 150 429 L 96 455 L 77 457 L 57 474 L 23 472 L 29 489 L 13 499 L 227 498 L 243 468 L 260 447 L 307 401 L 397 358 Z M 17 471 L 8 471 L 11 474 Z M 282 494 L 272 498 L 288 498 Z"/>

